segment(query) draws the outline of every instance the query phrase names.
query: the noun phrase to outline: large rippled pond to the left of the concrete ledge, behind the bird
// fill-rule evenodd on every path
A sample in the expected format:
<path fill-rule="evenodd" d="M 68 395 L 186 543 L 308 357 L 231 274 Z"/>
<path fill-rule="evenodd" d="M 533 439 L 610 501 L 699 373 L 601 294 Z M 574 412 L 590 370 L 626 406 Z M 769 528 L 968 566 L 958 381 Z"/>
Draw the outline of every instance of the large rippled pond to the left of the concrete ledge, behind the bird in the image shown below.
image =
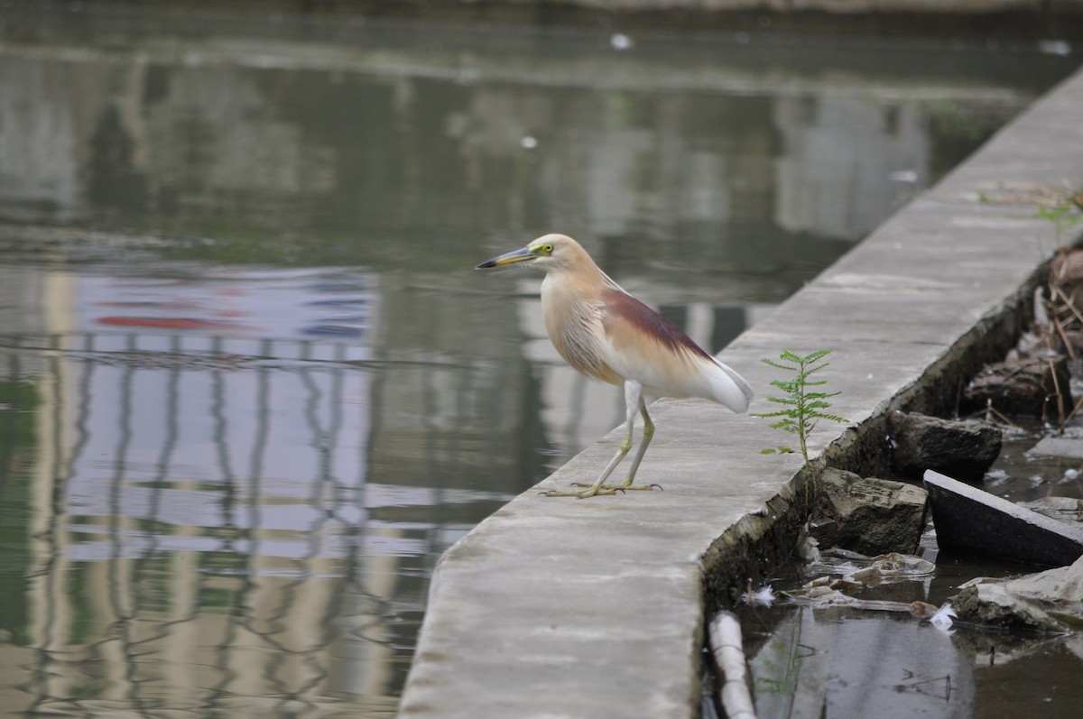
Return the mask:
<path fill-rule="evenodd" d="M 713 350 L 1062 77 L 1027 49 L 8 6 L 0 711 L 393 714 L 438 557 L 618 423 L 549 231 Z"/>

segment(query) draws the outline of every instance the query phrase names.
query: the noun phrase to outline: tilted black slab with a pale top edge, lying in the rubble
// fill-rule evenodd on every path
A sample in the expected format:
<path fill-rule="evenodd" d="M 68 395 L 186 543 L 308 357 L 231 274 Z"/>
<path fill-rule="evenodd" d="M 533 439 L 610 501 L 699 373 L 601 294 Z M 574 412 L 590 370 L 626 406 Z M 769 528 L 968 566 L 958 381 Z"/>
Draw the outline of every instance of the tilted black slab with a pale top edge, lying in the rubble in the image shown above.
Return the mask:
<path fill-rule="evenodd" d="M 937 544 L 1043 566 L 1083 555 L 1083 530 L 1043 517 L 938 472 L 925 473 Z"/>

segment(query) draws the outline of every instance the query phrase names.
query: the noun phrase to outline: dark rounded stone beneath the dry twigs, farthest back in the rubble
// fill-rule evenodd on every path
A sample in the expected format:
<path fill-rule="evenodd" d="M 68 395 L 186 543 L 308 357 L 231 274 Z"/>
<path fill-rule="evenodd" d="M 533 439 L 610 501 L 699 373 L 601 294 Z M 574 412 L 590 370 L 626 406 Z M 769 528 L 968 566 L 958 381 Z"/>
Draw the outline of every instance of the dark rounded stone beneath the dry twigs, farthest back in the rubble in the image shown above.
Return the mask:
<path fill-rule="evenodd" d="M 963 391 L 960 413 L 993 407 L 1004 415 L 1062 419 L 1072 409 L 1071 374 L 1065 356 L 987 365 Z"/>

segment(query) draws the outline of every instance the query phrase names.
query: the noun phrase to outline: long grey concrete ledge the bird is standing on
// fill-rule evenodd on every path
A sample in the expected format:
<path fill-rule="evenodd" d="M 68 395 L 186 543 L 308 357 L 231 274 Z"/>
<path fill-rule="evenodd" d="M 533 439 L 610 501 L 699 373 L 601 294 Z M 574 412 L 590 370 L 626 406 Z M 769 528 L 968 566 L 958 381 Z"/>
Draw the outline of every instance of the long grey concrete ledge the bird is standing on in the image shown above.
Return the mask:
<path fill-rule="evenodd" d="M 766 394 L 764 356 L 834 348 L 843 393 L 813 447 L 875 472 L 885 413 L 954 406 L 960 381 L 1014 341 L 1053 227 L 981 194 L 1083 184 L 1083 73 L 896 214 L 722 353 Z M 769 407 L 757 400 L 753 411 Z M 700 711 L 703 618 L 790 553 L 799 462 L 762 456 L 767 422 L 662 401 L 640 479 L 665 492 L 591 500 L 530 492 L 441 560 L 401 704 L 406 718 L 671 717 Z M 539 487 L 592 481 L 614 431 Z"/>

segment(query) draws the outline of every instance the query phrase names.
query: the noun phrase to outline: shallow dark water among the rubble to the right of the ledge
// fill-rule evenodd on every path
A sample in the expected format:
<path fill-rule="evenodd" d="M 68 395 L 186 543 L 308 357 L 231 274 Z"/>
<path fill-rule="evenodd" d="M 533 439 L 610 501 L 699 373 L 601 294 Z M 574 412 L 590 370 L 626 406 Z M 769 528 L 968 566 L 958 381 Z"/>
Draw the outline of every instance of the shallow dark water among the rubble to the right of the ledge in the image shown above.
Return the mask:
<path fill-rule="evenodd" d="M 1079 460 L 1033 455 L 1032 447 L 1052 432 L 1036 419 L 1017 419 L 1022 427 L 1005 432 L 984 489 L 1025 505 L 1051 496 L 1083 497 Z M 1079 432 L 1079 420 L 1069 432 Z M 919 553 L 936 562 L 935 574 L 865 587 L 857 596 L 940 606 L 975 577 L 1016 577 L 1045 568 L 939 551 L 934 535 L 923 538 Z M 808 578 L 788 566 L 772 584 L 787 589 Z M 909 612 L 866 609 L 779 604 L 738 611 L 762 719 L 1079 716 L 1083 638 L 1078 635 L 960 623 L 944 631 Z"/>

